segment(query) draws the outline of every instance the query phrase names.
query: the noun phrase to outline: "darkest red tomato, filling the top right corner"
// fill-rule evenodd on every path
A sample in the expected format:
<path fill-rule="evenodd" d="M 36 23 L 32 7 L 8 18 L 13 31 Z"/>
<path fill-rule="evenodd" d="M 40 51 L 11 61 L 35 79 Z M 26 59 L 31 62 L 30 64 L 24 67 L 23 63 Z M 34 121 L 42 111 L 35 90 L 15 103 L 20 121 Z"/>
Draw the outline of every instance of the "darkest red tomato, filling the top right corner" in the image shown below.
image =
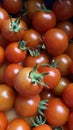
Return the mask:
<path fill-rule="evenodd" d="M 62 0 L 55 1 L 52 10 L 56 14 L 58 20 L 64 21 L 73 16 L 73 1 L 72 0 Z"/>

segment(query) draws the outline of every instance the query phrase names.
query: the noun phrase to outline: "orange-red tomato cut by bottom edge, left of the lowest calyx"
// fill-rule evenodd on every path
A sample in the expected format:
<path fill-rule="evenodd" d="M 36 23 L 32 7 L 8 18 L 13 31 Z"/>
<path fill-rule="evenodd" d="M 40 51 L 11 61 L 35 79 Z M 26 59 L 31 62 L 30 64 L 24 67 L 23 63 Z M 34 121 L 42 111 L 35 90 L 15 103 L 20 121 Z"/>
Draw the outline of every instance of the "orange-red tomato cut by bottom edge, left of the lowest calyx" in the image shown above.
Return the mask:
<path fill-rule="evenodd" d="M 12 120 L 8 124 L 6 130 L 17 130 L 19 128 L 21 130 L 31 130 L 29 124 L 24 119 L 21 119 L 21 118 L 17 118 L 17 119 Z"/>

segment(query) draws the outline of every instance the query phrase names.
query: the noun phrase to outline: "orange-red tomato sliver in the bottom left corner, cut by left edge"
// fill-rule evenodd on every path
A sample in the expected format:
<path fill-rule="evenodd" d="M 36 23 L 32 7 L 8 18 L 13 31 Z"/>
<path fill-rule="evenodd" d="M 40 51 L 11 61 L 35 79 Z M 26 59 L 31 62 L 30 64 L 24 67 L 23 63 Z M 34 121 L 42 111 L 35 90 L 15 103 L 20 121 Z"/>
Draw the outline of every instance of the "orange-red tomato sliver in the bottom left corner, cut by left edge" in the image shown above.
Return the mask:
<path fill-rule="evenodd" d="M 8 124 L 6 114 L 0 111 L 0 129 L 5 130 Z"/>

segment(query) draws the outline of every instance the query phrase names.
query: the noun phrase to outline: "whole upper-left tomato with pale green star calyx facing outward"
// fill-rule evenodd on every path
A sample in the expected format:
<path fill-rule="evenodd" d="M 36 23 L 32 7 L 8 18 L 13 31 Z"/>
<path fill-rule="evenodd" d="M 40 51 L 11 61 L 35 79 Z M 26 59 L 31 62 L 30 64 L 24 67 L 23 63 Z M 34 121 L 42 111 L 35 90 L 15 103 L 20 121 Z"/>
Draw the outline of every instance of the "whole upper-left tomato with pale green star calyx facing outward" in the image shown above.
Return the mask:
<path fill-rule="evenodd" d="M 1 33 L 8 41 L 15 42 L 22 39 L 26 28 L 26 23 L 20 18 L 9 18 L 2 23 Z"/>

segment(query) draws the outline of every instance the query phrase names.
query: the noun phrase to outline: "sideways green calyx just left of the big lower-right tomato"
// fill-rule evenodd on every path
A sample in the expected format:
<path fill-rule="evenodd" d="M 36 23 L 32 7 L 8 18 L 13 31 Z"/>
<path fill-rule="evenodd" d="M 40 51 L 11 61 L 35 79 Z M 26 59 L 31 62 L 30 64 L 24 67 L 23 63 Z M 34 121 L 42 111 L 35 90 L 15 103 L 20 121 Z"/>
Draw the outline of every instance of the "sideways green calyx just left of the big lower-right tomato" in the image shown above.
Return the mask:
<path fill-rule="evenodd" d="M 41 100 L 38 105 L 38 113 L 44 116 L 43 110 L 47 109 L 47 102 L 48 100 Z"/>

